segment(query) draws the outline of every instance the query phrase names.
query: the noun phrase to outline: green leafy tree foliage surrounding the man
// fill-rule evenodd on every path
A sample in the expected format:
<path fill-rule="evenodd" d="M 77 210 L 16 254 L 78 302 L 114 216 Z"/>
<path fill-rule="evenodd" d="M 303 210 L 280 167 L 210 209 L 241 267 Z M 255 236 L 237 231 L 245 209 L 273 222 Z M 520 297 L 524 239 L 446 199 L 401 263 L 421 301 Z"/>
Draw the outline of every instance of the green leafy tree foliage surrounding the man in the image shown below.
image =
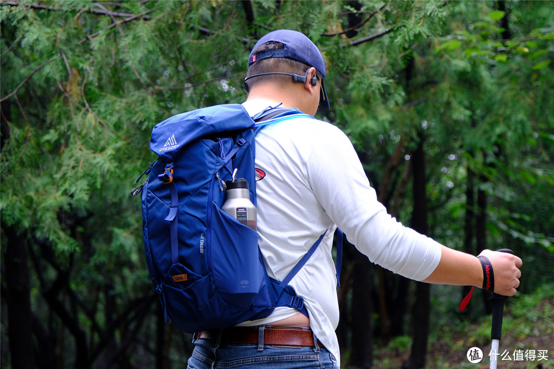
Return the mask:
<path fill-rule="evenodd" d="M 394 216 L 411 217 L 408 169 L 423 132 L 430 235 L 463 243 L 464 216 L 476 210 L 466 204 L 473 181 L 488 195 L 489 248 L 513 248 L 535 264 L 524 275 L 544 280 L 554 252 L 552 8 L 503 3 L 0 3 L 2 239 L 14 230 L 28 245 L 39 317 L 58 314 L 42 296 L 66 272 L 61 305 L 84 322 L 89 347 L 105 349 L 114 321 L 121 326 L 112 338 L 124 341 L 130 323 L 121 315 L 152 293 L 140 200 L 129 196 L 156 159 L 151 128 L 183 111 L 242 102 L 248 53 L 276 28 L 319 46 L 331 99 L 319 117 L 352 139 Z M 145 323 L 143 334 L 155 325 Z M 142 355 L 136 362 L 148 365 Z"/>

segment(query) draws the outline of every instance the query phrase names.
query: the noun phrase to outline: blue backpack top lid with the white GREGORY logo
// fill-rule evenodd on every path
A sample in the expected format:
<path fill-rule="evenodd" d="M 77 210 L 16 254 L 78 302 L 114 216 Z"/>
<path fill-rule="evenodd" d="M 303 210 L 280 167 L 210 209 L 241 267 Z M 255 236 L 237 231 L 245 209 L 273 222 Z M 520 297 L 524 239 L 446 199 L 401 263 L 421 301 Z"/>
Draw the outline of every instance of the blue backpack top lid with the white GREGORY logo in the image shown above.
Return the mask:
<path fill-rule="evenodd" d="M 240 104 L 216 105 L 175 115 L 152 129 L 150 149 L 173 162 L 184 145 L 217 132 L 252 127 L 254 121 Z"/>

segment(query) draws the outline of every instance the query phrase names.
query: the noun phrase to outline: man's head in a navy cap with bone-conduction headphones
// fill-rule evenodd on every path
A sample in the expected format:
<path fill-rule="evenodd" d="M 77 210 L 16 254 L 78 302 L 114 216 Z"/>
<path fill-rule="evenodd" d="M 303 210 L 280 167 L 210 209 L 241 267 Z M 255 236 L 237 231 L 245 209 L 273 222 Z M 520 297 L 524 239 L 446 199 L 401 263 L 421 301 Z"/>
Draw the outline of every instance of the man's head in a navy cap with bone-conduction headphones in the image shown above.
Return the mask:
<path fill-rule="evenodd" d="M 291 82 L 307 81 L 312 86 L 319 83 L 320 106 L 329 108 L 325 75 L 325 62 L 316 45 L 300 32 L 281 29 L 266 34 L 254 45 L 244 87 L 249 92 L 253 86 L 266 82 L 283 87 Z"/>

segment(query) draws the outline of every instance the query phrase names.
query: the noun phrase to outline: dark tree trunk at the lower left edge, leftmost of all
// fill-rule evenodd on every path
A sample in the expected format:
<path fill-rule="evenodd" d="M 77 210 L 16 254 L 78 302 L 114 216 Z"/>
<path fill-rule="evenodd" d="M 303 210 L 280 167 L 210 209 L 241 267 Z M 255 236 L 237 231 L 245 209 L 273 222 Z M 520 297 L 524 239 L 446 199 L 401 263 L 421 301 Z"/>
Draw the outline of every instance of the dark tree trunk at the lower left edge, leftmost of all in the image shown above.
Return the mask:
<path fill-rule="evenodd" d="M 12 227 L 4 227 L 7 238 L 6 274 L 8 339 L 12 369 L 35 368 L 30 302 L 29 267 L 25 238 Z"/>

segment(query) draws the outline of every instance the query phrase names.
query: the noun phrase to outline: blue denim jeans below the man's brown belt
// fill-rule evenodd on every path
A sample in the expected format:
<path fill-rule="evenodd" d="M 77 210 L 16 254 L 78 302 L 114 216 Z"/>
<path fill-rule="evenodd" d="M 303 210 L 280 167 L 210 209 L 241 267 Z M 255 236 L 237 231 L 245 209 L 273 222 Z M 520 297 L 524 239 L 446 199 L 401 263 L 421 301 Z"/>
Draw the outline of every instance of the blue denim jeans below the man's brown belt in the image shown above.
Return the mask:
<path fill-rule="evenodd" d="M 218 337 L 219 338 L 219 337 Z M 335 357 L 314 336 L 314 346 L 222 344 L 193 339 L 187 369 L 338 369 Z"/>

